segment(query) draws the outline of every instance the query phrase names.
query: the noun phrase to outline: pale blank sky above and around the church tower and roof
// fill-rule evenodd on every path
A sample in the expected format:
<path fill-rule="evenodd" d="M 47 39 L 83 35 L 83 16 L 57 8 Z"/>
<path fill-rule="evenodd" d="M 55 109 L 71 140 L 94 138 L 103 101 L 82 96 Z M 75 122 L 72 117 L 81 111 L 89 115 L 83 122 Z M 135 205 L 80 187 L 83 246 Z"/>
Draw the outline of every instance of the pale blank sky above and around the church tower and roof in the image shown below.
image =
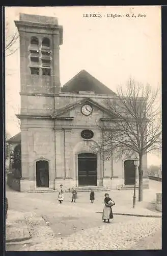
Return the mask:
<path fill-rule="evenodd" d="M 161 87 L 159 6 L 6 7 L 8 35 L 17 30 L 14 20 L 19 20 L 19 13 L 58 17 L 59 25 L 63 26 L 62 86 L 85 69 L 115 92 L 118 86 L 125 86 L 129 77 L 149 82 L 154 88 Z M 84 17 L 86 13 L 89 17 Z M 95 13 L 99 17 L 90 17 Z M 107 17 L 111 14 L 121 17 Z M 16 47 L 19 48 L 19 41 Z M 19 49 L 6 58 L 6 130 L 11 136 L 20 131 L 15 116 L 20 111 L 19 58 Z M 150 156 L 150 163 L 151 159 L 155 161 L 155 156 Z"/>

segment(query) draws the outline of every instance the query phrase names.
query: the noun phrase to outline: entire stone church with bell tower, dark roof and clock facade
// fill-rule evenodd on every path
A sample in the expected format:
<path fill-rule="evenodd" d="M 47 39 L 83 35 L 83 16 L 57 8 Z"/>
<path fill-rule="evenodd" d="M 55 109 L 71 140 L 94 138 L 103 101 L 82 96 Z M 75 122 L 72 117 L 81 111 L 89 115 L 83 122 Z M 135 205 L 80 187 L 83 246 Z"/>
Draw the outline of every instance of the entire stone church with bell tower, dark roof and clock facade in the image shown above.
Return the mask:
<path fill-rule="evenodd" d="M 20 14 L 15 25 L 20 37 L 20 190 L 134 185 L 131 158 L 106 160 L 94 150 L 102 136 L 99 125 L 112 118 L 107 99 L 116 99 L 116 93 L 85 70 L 61 87 L 63 27 L 57 18 Z M 143 166 L 147 169 L 147 156 Z"/>

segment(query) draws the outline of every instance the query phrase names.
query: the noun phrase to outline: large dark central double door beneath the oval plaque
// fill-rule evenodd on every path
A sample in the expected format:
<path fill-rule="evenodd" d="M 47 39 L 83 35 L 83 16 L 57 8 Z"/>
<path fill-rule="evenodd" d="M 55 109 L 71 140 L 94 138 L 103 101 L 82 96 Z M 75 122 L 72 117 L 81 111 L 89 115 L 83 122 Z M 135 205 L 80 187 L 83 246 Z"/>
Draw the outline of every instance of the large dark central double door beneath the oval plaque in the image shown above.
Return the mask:
<path fill-rule="evenodd" d="M 78 155 L 78 185 L 97 186 L 97 156 L 92 153 Z"/>

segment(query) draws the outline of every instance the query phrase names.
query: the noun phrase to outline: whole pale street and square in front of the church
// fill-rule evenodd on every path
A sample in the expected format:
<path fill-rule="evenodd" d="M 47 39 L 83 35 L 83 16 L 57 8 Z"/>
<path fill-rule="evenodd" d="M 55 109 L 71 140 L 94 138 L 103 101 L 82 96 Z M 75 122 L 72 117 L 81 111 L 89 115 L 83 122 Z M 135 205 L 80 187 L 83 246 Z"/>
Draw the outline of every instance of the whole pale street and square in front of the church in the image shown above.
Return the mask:
<path fill-rule="evenodd" d="M 148 196 L 149 190 L 144 194 Z M 132 210 L 132 193 L 110 191 L 116 202 L 113 211 L 119 210 L 121 201 L 120 209 Z M 76 203 L 66 193 L 63 204 L 58 203 L 57 193 L 19 193 L 7 188 L 7 197 L 9 211 L 24 215 L 32 236 L 23 243 L 7 244 L 7 250 L 161 249 L 161 218 L 114 215 L 110 223 L 103 223 L 104 192 L 95 193 L 94 204 L 90 204 L 89 193 L 78 193 Z M 136 210 L 145 205 L 146 200 L 136 202 Z"/>

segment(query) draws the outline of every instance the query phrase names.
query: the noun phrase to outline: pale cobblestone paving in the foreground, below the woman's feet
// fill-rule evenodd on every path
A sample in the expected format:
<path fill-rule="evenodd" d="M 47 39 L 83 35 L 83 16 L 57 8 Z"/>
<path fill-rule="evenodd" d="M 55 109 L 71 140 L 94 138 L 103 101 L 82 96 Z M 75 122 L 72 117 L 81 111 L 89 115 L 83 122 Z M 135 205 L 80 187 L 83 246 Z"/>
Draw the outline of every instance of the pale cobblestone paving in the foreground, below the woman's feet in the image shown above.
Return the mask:
<path fill-rule="evenodd" d="M 37 224 L 33 233 L 33 243 L 23 245 L 20 250 L 124 250 L 135 249 L 135 244 L 136 249 L 139 249 L 141 239 L 148 239 L 155 231 L 160 232 L 161 229 L 160 218 L 129 217 L 122 221 L 116 217 L 116 220 L 109 224 L 100 225 L 99 220 L 96 227 L 73 231 L 69 236 L 64 236 L 62 233 L 54 234 L 46 223 L 42 224 L 40 218 L 34 217 L 32 216 L 32 220 L 29 218 L 30 226 L 35 224 L 33 219 L 36 219 Z M 68 224 L 66 227 L 68 229 Z M 143 247 L 145 245 L 143 244 Z M 161 248 L 160 243 L 156 245 L 158 247 L 155 249 Z M 146 249 L 152 248 L 147 244 Z"/>

